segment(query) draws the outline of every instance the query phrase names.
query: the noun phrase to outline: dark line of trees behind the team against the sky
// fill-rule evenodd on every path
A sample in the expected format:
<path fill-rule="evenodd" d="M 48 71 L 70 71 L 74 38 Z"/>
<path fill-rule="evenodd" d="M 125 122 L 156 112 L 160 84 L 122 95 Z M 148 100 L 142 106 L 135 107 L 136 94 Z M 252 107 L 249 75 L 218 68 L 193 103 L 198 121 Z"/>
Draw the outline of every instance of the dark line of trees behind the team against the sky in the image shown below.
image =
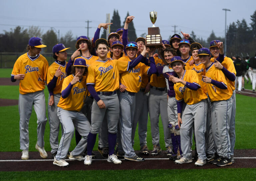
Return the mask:
<path fill-rule="evenodd" d="M 127 16 L 129 16 L 129 12 L 127 12 L 126 17 Z M 246 55 L 253 56 L 255 54 L 256 10 L 250 17 L 252 22 L 249 25 L 245 19 L 237 20 L 236 22 L 229 24 L 227 29 L 227 45 L 224 45 L 227 46 L 227 56 L 240 55 L 245 57 Z M 121 25 L 118 10 L 114 10 L 111 19 L 111 22 L 114 23 L 110 26 L 110 32 L 115 32 L 118 28 L 123 27 L 125 19 Z M 140 36 L 145 37 L 145 35 L 146 33 L 143 33 Z M 47 45 L 47 47 L 43 49 L 44 52 L 52 52 L 52 47 L 56 42 L 63 43 L 66 47 L 71 47 L 69 52 L 76 50 L 74 46 L 76 37 L 73 36 L 71 30 L 63 37 L 60 37 L 60 41 L 58 41 L 57 34 L 52 28 L 43 34 L 42 30 L 37 26 L 31 26 L 28 29 L 17 26 L 14 29 L 11 28 L 10 31 L 4 31 L 4 33 L 0 34 L 0 52 L 25 52 L 25 45 L 28 43 L 28 39 L 33 36 L 42 38 L 43 43 Z M 170 37 L 171 36 L 172 35 L 170 35 Z M 224 37 L 216 37 L 213 30 L 207 40 L 196 36 L 194 31 L 190 33 L 190 36 L 203 47 L 209 47 L 210 41 L 212 40 L 220 40 L 224 42 Z M 106 38 L 105 29 L 100 38 Z M 128 38 L 130 41 L 135 41 L 137 38 L 133 22 L 129 24 Z"/>

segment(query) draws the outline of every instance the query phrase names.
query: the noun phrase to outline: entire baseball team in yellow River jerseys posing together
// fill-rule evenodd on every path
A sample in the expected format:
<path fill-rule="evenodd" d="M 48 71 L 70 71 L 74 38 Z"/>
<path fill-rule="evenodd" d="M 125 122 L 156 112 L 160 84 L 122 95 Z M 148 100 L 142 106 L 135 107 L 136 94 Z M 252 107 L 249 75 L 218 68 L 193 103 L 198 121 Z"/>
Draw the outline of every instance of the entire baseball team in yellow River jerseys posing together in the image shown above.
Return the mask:
<path fill-rule="evenodd" d="M 69 165 L 67 157 L 91 165 L 97 134 L 98 151 L 108 162 L 145 161 L 147 155 L 161 152 L 159 116 L 165 152 L 176 163 L 193 162 L 193 139 L 195 165 L 234 163 L 236 70 L 224 55 L 223 43 L 213 40 L 209 49 L 203 48 L 182 32 L 184 39 L 174 34 L 170 41 L 162 41 L 156 54 L 156 48 L 145 46 L 143 37 L 129 42 L 128 25 L 133 18 L 128 16 L 124 27 L 110 33 L 107 40 L 99 38 L 100 30 L 111 23 L 99 24 L 92 40 L 79 36 L 68 62 L 69 48 L 56 44 L 50 66 L 40 54 L 46 45 L 38 37 L 30 38 L 28 52 L 16 60 L 11 73 L 12 82 L 20 81 L 21 159 L 29 159 L 33 106 L 38 124 L 36 149 L 42 158 L 48 157 L 44 149 L 46 84 L 54 165 Z M 146 139 L 148 114 L 151 151 Z M 137 125 L 144 158 L 133 149 Z M 69 152 L 74 132 L 76 147 Z"/>

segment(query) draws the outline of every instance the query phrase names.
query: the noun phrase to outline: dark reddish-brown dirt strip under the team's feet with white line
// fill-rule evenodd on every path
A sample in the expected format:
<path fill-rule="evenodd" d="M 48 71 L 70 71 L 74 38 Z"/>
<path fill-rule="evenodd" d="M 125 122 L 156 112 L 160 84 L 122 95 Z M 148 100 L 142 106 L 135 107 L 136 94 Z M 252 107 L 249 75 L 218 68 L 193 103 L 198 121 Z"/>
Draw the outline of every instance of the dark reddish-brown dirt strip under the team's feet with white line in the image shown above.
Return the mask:
<path fill-rule="evenodd" d="M 21 152 L 0 152 L 0 171 L 48 171 L 48 170 L 133 170 L 133 169 L 216 169 L 222 168 L 207 163 L 204 166 L 195 166 L 194 163 L 175 164 L 169 160 L 164 151 L 157 156 L 140 155 L 146 159 L 144 162 L 133 162 L 122 159 L 122 164 L 108 163 L 106 159 L 102 159 L 99 152 L 94 151 L 96 158 L 93 159 L 92 165 L 84 165 L 83 161 L 67 160 L 68 167 L 58 167 L 53 165 L 50 158 L 41 159 L 38 152 L 29 152 L 29 160 L 21 160 Z M 254 157 L 254 158 L 253 158 Z M 6 161 L 5 161 L 6 160 Z M 256 149 L 235 150 L 235 163 L 225 168 L 256 168 Z"/>

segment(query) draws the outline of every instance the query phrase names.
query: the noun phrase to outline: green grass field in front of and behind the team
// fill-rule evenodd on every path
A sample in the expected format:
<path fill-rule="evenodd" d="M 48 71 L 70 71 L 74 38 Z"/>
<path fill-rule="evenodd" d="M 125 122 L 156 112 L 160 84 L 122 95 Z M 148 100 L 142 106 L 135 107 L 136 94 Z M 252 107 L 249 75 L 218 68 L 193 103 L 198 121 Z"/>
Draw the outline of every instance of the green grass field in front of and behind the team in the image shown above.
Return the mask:
<path fill-rule="evenodd" d="M 0 77 L 10 77 L 12 69 L 0 69 Z M 251 89 L 251 85 L 245 83 L 245 88 Z M 18 86 L 0 86 L 0 98 L 18 99 Z M 45 90 L 46 102 L 48 101 L 48 91 Z M 47 105 L 47 104 L 46 104 Z M 255 107 L 256 98 L 236 95 L 236 145 L 235 149 L 256 149 L 255 143 Z M 0 152 L 17 151 L 19 149 L 19 112 L 18 106 L 5 106 L 0 109 Z M 33 111 L 29 124 L 30 148 L 29 151 L 36 151 L 36 114 Z M 163 128 L 161 121 L 160 144 L 164 149 Z M 60 137 L 59 137 L 60 138 Z M 50 151 L 49 124 L 45 130 L 45 149 Z M 150 120 L 148 122 L 147 142 L 149 149 L 152 149 L 152 137 L 150 130 Z M 73 138 L 70 150 L 75 147 Z M 135 135 L 135 150 L 139 150 L 138 134 Z M 97 140 L 94 147 L 97 150 Z M 246 176 L 245 176 L 246 175 Z M 94 171 L 39 171 L 39 172 L 0 172 L 1 180 L 255 180 L 256 169 L 187 169 L 181 170 L 94 170 Z"/>

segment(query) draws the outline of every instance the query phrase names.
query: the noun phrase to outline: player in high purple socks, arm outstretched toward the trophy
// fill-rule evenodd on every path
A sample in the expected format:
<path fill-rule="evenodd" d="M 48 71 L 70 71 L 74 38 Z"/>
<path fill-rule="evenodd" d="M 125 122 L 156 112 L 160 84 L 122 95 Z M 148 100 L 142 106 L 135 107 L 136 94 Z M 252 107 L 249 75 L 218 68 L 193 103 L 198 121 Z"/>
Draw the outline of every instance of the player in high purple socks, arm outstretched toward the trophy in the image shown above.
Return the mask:
<path fill-rule="evenodd" d="M 117 123 L 119 118 L 119 100 L 116 90 L 119 88 L 119 73 L 128 71 L 136 66 L 143 56 L 139 56 L 133 61 L 108 60 L 108 42 L 105 39 L 98 39 L 95 42 L 99 59 L 89 66 L 87 87 L 94 98 L 92 104 L 92 123 L 88 135 L 88 148 L 84 164 L 92 163 L 91 152 L 94 147 L 97 133 L 101 127 L 104 116 L 108 122 L 108 145 L 109 156 L 107 161 L 115 164 L 122 163 L 114 154 L 116 144 Z"/>

